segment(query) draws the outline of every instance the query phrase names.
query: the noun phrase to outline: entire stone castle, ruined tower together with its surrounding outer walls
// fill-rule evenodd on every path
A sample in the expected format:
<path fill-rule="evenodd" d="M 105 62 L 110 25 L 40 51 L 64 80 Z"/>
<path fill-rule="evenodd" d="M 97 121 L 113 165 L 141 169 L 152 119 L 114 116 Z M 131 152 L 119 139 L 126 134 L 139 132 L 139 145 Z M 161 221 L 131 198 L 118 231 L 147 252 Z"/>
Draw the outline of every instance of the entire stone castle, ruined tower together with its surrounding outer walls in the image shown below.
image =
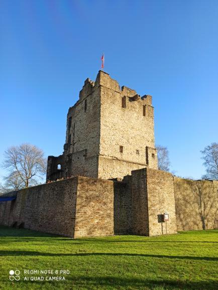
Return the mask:
<path fill-rule="evenodd" d="M 152 97 L 99 71 L 69 108 L 64 152 L 48 157 L 47 183 L 0 203 L 0 224 L 73 238 L 217 228 L 218 181 L 157 170 L 154 144 Z"/>

